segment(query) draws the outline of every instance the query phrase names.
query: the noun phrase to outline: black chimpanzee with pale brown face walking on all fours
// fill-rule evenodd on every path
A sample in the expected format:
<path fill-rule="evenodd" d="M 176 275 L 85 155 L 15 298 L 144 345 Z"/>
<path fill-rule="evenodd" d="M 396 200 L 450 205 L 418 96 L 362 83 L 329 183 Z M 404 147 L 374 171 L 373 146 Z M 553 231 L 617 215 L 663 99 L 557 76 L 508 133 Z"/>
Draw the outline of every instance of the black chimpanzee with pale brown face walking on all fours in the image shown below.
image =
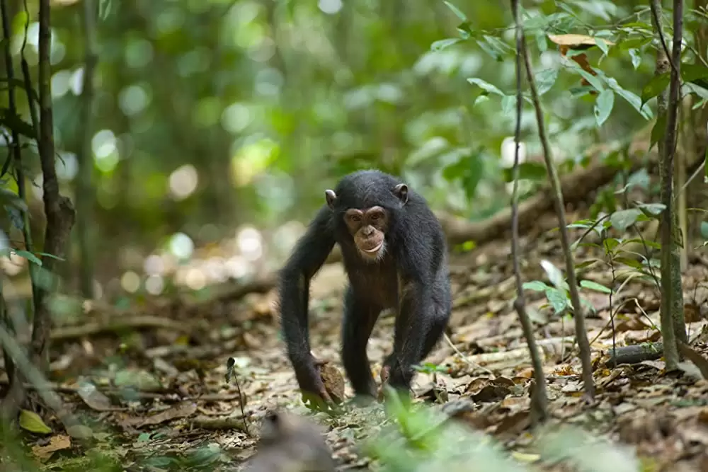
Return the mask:
<path fill-rule="evenodd" d="M 310 353 L 309 282 L 337 243 L 349 284 L 344 294 L 342 362 L 358 397 L 376 396 L 366 345 L 379 313 L 396 309 L 394 349 L 382 381 L 410 388 L 413 364 L 442 336 L 452 310 L 445 235 L 426 200 L 381 171 L 346 175 L 325 190 L 326 205 L 280 273 L 287 354 L 304 401 L 331 404 Z"/>

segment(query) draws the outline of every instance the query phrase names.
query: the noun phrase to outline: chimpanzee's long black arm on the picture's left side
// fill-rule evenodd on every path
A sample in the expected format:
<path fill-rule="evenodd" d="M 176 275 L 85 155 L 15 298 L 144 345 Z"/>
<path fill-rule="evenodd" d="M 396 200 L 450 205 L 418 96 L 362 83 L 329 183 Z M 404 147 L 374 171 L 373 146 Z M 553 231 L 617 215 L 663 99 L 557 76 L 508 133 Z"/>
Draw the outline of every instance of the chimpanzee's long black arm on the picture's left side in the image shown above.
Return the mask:
<path fill-rule="evenodd" d="M 324 264 L 335 243 L 332 212 L 323 206 L 297 241 L 280 273 L 280 316 L 287 355 L 304 399 L 330 402 L 310 353 L 309 282 Z M 317 398 L 319 397 L 319 398 Z"/>

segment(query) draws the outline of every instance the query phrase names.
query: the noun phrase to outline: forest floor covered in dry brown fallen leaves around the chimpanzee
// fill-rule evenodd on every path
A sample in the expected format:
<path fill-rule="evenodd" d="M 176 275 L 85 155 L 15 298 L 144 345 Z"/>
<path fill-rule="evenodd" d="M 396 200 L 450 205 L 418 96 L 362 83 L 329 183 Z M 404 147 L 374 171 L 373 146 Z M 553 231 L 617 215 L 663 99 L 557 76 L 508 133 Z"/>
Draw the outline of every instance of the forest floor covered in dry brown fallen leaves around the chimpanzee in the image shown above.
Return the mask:
<path fill-rule="evenodd" d="M 541 260 L 564 267 L 557 235 L 552 231 L 523 238 L 525 282 L 547 280 Z M 573 235 L 577 238 L 579 233 Z M 576 264 L 597 256 L 589 249 L 578 249 Z M 426 359 L 445 367 L 445 372 L 417 374 L 414 393 L 421 400 L 432 398 L 433 403 L 435 384 L 438 397 L 442 391 L 449 402 L 467 401 L 473 408 L 457 415 L 459 420 L 491 434 L 518 452 L 517 458 L 533 462 L 537 456 L 527 434 L 531 369 L 512 306 L 510 242 L 495 241 L 452 255 L 450 265 L 455 297 L 450 337 Z M 612 270 L 596 263 L 585 267 L 580 278 L 617 287 L 622 280 L 619 272 L 613 282 Z M 708 258 L 697 253 L 685 272 L 685 304 L 691 345 L 704 357 L 707 281 Z M 312 284 L 310 302 L 313 352 L 340 372 L 344 283 L 341 264 L 326 265 Z M 610 306 L 617 311 L 617 345 L 658 340 L 658 289 L 637 278 L 624 285 L 622 298 L 612 304 L 602 292 L 583 289 L 581 295 L 594 309 L 587 316 L 597 386 L 591 408 L 583 403 L 572 318 L 554 315 L 544 306 L 547 300 L 542 292 L 527 291 L 544 353 L 552 420 L 581 426 L 613 444 L 634 446 L 646 471 L 708 471 L 708 381 L 702 378 L 702 368 L 686 362 L 682 374 L 668 376 L 657 358 L 615 368 L 607 363 L 607 350 L 612 347 Z M 55 331 L 52 379 L 57 380 L 62 399 L 93 428 L 93 447 L 114 456 L 125 470 L 233 466 L 253 454 L 259 423 L 268 408 L 309 414 L 283 349 L 274 301 L 272 290 L 238 299 L 169 299 L 145 302 L 127 315 L 85 303 L 84 312 L 93 324 L 84 320 L 79 330 Z M 127 324 L 132 328 L 116 330 L 115 318 L 126 323 L 130 318 Z M 370 340 L 376 379 L 380 362 L 392 348 L 392 323 L 392 315 L 384 313 Z M 93 328 L 86 329 L 89 325 Z M 236 385 L 224 381 L 229 357 L 236 360 L 243 405 Z M 351 396 L 348 385 L 346 395 Z M 41 403 L 35 404 L 35 410 L 50 430 L 35 435 L 30 444 L 33 455 L 54 470 L 85 464 L 89 460 L 85 449 L 69 438 L 49 410 Z M 366 468 L 368 459 L 358 442 L 371 432 L 355 419 L 355 413 L 348 415 L 332 419 L 319 413 L 312 418 L 324 426 L 342 469 Z M 551 470 L 539 464 L 525 466 Z"/>

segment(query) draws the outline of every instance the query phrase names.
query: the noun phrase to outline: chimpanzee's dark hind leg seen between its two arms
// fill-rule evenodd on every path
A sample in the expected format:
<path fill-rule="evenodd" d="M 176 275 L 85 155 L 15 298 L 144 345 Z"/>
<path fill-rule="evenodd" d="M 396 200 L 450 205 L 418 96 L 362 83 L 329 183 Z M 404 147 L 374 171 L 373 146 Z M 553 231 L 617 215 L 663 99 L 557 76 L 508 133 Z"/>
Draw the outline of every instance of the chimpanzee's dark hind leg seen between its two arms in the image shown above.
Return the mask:
<path fill-rule="evenodd" d="M 342 363 L 357 396 L 376 396 L 366 345 L 381 313 L 378 306 L 358 297 L 351 286 L 344 293 Z"/>

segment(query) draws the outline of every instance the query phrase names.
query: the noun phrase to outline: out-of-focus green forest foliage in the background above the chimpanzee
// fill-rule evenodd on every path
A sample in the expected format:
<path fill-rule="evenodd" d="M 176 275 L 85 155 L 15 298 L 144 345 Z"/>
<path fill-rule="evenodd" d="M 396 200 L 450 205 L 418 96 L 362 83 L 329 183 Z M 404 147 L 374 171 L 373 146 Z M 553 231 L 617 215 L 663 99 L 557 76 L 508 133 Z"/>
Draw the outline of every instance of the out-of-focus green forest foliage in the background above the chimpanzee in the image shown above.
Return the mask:
<path fill-rule="evenodd" d="M 151 251 L 178 232 L 201 246 L 246 221 L 273 227 L 307 219 L 324 188 L 358 168 L 401 174 L 433 206 L 472 219 L 508 204 L 500 161 L 515 101 L 507 4 L 99 3 L 91 123 L 98 267 L 115 259 L 115 246 Z M 8 4 L 13 52 L 19 60 L 26 26 L 25 57 L 36 76 L 38 5 L 29 1 L 25 11 L 22 1 Z M 642 99 L 661 85 L 650 84 L 648 6 L 544 0 L 525 7 L 549 138 L 556 159 L 570 163 L 566 170 L 588 162 L 583 153 L 591 144 L 626 142 L 646 126 L 655 100 Z M 57 166 L 64 193 L 72 195 L 82 130 L 81 2 L 55 0 L 52 15 Z M 686 30 L 701 21 L 689 12 Z M 566 33 L 598 38 L 586 51 L 599 72 L 590 86 L 580 84 L 589 74 L 564 61 L 549 40 Z M 691 48 L 691 35 L 687 42 Z M 597 84 L 599 96 L 590 93 Z M 699 82 L 690 85 L 705 92 Z M 28 121 L 25 98 L 18 98 Z M 522 138 L 534 161 L 540 146 L 530 105 Z M 25 161 L 39 183 L 37 159 Z M 543 175 L 537 163 L 527 166 L 524 176 Z M 11 182 L 6 187 L 15 190 Z M 40 188 L 32 190 L 36 200 Z"/>

